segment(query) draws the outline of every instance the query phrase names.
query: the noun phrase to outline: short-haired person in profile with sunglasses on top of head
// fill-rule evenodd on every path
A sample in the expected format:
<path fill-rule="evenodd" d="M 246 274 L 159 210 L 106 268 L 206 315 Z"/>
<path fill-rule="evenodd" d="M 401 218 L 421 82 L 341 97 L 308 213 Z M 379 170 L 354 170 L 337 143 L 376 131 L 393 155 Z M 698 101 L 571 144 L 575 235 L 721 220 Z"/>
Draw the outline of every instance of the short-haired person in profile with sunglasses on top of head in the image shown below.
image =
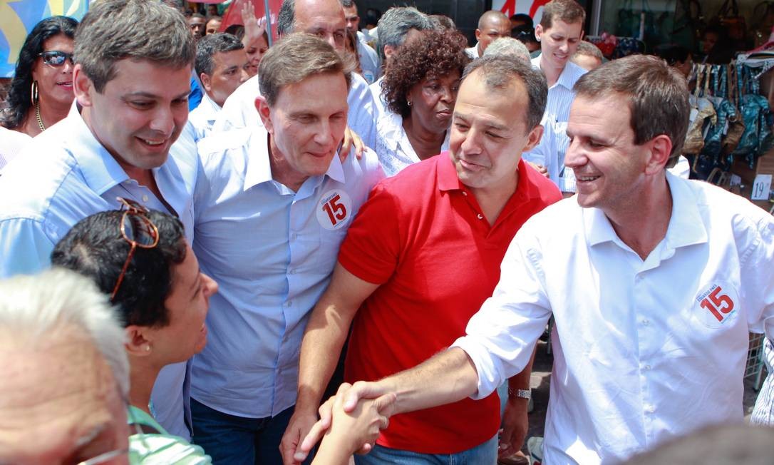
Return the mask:
<path fill-rule="evenodd" d="M 130 368 L 130 463 L 207 465 L 211 459 L 201 447 L 159 425 L 151 391 L 163 367 L 204 348 L 204 319 L 217 284 L 199 270 L 180 220 L 118 201 L 121 211 L 77 222 L 57 243 L 51 263 L 94 280 L 122 319 Z"/>

